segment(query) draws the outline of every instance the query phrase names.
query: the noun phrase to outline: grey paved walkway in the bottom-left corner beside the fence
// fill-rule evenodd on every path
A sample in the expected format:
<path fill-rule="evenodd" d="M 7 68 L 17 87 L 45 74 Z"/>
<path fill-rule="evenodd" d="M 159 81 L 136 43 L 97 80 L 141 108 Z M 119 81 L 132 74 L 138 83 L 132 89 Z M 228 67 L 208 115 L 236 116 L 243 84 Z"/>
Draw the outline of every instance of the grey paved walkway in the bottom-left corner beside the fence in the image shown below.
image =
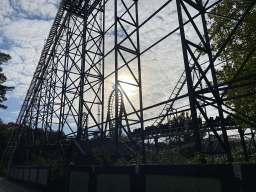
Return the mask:
<path fill-rule="evenodd" d="M 0 177 L 0 192 L 42 192 L 15 181 Z"/>

